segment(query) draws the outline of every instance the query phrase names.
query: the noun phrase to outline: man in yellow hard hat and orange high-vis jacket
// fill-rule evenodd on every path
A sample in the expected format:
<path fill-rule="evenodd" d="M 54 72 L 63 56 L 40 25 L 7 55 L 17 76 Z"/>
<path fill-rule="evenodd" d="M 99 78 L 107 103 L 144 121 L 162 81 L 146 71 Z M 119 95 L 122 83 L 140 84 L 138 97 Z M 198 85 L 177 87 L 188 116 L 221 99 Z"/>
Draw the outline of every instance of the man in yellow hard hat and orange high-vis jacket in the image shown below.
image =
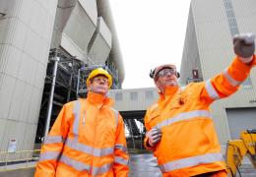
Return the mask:
<path fill-rule="evenodd" d="M 90 73 L 87 98 L 63 106 L 41 148 L 35 177 L 128 176 L 124 123 L 106 96 L 111 85 L 104 69 Z"/>

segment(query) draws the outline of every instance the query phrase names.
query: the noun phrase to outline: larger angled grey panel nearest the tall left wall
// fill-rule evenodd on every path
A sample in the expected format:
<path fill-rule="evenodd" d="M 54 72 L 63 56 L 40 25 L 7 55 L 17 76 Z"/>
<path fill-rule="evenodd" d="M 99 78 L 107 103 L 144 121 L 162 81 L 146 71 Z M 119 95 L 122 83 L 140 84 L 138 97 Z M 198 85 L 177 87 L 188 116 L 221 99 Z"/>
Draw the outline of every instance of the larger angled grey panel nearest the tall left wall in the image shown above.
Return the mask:
<path fill-rule="evenodd" d="M 83 3 L 81 3 L 83 2 Z M 85 1 L 78 1 L 63 29 L 61 42 L 58 43 L 71 55 L 77 56 L 86 62 L 88 45 L 96 30 L 96 1 L 85 4 Z M 90 6 L 91 8 L 87 7 Z M 90 12 L 87 10 L 91 9 Z M 58 22 L 57 20 L 55 21 Z M 94 59 L 92 59 L 94 60 Z"/>

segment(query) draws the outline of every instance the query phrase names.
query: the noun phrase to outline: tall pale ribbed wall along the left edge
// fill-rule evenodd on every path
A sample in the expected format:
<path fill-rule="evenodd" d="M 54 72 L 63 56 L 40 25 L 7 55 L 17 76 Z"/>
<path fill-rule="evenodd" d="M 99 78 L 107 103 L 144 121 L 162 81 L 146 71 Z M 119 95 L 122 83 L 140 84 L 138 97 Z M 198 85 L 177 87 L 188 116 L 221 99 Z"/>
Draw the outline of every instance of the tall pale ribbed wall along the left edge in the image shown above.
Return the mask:
<path fill-rule="evenodd" d="M 0 151 L 32 149 L 57 0 L 1 0 Z"/>

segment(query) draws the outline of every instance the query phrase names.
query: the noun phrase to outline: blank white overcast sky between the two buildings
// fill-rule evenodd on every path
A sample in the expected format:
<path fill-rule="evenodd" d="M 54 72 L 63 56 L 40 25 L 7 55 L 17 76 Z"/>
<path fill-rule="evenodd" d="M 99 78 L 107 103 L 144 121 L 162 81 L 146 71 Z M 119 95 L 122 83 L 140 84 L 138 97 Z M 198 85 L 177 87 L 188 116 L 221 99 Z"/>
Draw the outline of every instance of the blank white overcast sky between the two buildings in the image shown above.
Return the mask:
<path fill-rule="evenodd" d="M 180 68 L 190 0 L 109 0 L 123 56 L 123 89 L 154 87 L 150 70 Z"/>

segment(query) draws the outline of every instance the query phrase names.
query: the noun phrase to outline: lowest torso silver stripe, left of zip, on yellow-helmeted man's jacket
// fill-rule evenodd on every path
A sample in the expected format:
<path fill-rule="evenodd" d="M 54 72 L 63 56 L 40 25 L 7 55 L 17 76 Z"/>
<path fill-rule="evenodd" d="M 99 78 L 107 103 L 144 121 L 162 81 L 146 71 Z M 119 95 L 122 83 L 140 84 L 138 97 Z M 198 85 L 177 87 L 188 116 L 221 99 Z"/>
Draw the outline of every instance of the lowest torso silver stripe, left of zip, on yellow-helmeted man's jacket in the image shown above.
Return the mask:
<path fill-rule="evenodd" d="M 68 157 L 64 154 L 61 155 L 59 161 L 75 168 L 78 171 L 85 171 L 86 170 L 86 171 L 90 172 L 91 168 L 92 168 L 90 165 L 82 163 L 82 162 L 77 161 L 75 159 L 72 159 L 72 158 L 70 158 L 70 157 Z"/>

